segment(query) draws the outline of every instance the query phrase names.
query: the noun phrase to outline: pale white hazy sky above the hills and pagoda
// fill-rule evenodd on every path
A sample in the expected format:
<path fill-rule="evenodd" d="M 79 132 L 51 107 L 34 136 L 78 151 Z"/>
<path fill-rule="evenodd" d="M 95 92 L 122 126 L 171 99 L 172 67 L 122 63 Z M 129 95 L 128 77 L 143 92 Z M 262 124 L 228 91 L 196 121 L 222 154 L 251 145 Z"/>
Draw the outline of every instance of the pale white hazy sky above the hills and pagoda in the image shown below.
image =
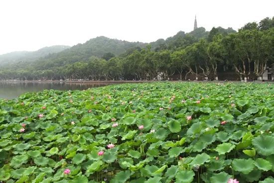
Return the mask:
<path fill-rule="evenodd" d="M 274 0 L 0 0 L 0 54 L 107 36 L 151 42 L 182 30 L 238 30 L 274 16 Z"/>

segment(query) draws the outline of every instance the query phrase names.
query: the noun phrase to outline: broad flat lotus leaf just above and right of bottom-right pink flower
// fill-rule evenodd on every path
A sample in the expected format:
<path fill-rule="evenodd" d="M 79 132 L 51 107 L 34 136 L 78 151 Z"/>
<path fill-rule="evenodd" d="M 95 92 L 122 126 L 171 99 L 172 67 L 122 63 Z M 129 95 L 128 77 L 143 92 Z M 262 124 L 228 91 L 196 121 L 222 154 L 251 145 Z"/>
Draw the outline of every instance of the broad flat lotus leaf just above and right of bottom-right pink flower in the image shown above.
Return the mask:
<path fill-rule="evenodd" d="M 243 174 L 249 174 L 254 169 L 254 161 L 252 159 L 234 159 L 232 161 L 232 168 Z"/>

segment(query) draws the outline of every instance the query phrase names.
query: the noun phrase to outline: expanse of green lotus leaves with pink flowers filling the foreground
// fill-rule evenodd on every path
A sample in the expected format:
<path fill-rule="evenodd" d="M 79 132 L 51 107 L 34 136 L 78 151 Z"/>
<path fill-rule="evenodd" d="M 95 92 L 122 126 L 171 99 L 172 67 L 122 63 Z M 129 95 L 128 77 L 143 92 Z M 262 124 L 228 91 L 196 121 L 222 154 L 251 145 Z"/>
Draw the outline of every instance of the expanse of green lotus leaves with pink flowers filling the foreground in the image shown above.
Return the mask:
<path fill-rule="evenodd" d="M 274 183 L 273 132 L 271 84 L 26 93 L 0 99 L 0 181 Z"/>

